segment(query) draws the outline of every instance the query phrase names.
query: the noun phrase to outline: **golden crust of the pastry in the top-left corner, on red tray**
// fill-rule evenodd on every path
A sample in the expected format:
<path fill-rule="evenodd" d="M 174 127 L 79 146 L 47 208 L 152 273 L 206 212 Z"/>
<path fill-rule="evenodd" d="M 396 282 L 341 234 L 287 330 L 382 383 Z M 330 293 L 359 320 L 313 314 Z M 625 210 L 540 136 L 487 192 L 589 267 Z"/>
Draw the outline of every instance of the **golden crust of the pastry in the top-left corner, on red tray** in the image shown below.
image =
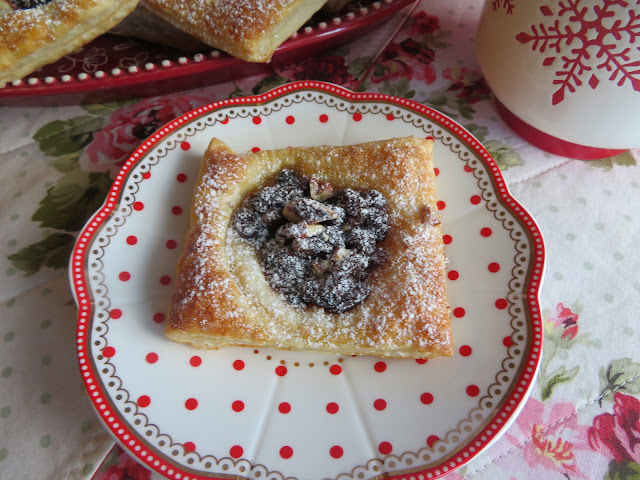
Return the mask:
<path fill-rule="evenodd" d="M 52 0 L 0 13 L 0 87 L 105 33 L 139 0 Z"/>

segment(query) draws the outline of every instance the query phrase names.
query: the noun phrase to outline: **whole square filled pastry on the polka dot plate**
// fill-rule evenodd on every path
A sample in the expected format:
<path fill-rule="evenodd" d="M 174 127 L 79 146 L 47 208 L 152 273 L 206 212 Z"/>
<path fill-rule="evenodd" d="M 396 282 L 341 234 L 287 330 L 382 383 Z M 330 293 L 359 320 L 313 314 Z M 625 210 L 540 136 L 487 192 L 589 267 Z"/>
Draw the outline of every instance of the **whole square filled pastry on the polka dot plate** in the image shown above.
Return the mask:
<path fill-rule="evenodd" d="M 166 335 L 203 349 L 453 352 L 431 140 L 207 149 Z"/>

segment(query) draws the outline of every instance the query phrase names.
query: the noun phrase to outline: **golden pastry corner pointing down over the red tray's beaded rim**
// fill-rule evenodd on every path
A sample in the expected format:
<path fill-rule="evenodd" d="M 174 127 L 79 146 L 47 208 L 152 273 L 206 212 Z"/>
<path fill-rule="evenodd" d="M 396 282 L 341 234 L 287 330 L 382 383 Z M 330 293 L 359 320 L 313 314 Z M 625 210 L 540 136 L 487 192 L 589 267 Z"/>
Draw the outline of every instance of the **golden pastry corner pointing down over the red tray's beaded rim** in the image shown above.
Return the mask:
<path fill-rule="evenodd" d="M 143 0 L 177 28 L 250 62 L 268 62 L 327 0 Z"/>

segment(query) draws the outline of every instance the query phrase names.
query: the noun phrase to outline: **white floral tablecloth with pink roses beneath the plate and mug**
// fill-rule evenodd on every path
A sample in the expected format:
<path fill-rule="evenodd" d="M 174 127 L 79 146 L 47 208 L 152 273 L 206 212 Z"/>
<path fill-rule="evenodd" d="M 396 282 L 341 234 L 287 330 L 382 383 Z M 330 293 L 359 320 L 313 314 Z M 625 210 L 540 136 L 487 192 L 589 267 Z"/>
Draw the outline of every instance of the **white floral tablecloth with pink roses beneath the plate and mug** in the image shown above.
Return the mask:
<path fill-rule="evenodd" d="M 1 107 L 0 479 L 159 478 L 114 445 L 86 398 L 66 276 L 75 236 L 119 166 L 159 126 L 300 79 L 409 98 L 451 116 L 483 142 L 544 234 L 537 383 L 506 434 L 447 478 L 640 478 L 640 150 L 585 162 L 515 136 L 478 70 L 481 8 L 479 0 L 422 0 L 323 55 L 199 90 Z"/>

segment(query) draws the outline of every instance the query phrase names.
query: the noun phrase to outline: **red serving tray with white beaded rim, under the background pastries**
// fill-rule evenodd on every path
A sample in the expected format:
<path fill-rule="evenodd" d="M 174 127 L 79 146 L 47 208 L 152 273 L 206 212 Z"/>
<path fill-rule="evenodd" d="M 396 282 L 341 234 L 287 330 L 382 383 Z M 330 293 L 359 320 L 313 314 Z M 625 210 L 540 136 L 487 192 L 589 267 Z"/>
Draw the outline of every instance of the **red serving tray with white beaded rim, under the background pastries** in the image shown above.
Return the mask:
<path fill-rule="evenodd" d="M 32 75 L 0 88 L 2 105 L 65 105 L 141 98 L 273 72 L 371 31 L 416 0 L 361 0 L 318 13 L 274 53 L 251 63 L 218 50 L 185 53 L 105 34 Z"/>

